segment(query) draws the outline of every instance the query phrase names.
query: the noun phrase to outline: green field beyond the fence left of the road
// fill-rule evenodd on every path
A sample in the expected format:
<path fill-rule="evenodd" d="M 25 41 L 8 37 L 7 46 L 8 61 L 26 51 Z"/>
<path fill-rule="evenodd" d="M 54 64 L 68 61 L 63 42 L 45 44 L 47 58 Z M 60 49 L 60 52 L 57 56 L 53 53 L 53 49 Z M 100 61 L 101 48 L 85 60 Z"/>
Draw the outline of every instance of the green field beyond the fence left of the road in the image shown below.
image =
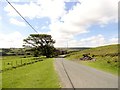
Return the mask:
<path fill-rule="evenodd" d="M 2 70 L 42 60 L 43 57 L 3 56 Z"/>

